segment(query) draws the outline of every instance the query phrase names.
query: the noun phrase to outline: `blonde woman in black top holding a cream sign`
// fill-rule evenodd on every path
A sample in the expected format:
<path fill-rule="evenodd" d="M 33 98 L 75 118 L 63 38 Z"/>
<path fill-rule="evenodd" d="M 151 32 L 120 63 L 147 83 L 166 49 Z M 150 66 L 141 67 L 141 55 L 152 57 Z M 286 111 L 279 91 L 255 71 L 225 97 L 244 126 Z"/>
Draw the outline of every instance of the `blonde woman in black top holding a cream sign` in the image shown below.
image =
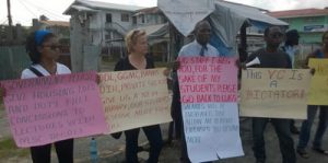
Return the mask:
<path fill-rule="evenodd" d="M 142 30 L 132 30 L 126 36 L 126 46 L 128 56 L 120 59 L 116 66 L 115 71 L 125 70 L 144 70 L 153 69 L 154 61 L 145 57 L 148 53 L 148 42 L 145 32 Z M 148 163 L 159 162 L 160 152 L 163 147 L 162 133 L 160 125 L 142 127 L 149 142 L 150 154 Z M 126 130 L 126 160 L 128 163 L 138 163 L 138 137 L 140 128 Z"/>

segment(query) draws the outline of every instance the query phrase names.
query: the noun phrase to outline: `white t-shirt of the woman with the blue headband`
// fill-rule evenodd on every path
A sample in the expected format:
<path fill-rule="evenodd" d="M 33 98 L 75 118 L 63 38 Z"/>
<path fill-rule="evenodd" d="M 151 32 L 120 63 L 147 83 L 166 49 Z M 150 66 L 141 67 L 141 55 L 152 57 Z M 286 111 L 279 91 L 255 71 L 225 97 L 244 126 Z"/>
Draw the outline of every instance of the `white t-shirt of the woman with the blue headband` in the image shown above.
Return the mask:
<path fill-rule="evenodd" d="M 43 66 L 38 63 L 32 65 L 32 67 L 38 70 L 44 75 L 50 75 L 50 73 Z M 56 74 L 68 74 L 68 73 L 71 73 L 71 70 L 65 65 L 57 62 Z M 23 70 L 21 79 L 28 79 L 28 78 L 37 78 L 37 75 L 34 72 L 32 72 L 28 68 L 26 68 L 25 70 Z"/>

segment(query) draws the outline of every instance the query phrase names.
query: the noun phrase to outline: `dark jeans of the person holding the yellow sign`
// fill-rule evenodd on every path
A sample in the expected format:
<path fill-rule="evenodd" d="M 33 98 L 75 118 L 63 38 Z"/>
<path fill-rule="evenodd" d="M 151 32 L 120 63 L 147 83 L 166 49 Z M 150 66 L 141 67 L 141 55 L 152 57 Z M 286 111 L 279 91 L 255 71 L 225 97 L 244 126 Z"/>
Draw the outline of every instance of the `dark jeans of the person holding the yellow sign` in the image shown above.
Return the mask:
<path fill-rule="evenodd" d="M 328 126 L 328 106 L 319 106 L 319 107 L 320 107 L 319 124 L 313 141 L 313 148 L 321 148 L 323 136 Z M 317 110 L 318 110 L 317 105 L 307 106 L 307 119 L 302 123 L 297 149 L 305 149 L 307 147 L 309 135 L 311 135 L 311 127 L 316 117 Z"/>

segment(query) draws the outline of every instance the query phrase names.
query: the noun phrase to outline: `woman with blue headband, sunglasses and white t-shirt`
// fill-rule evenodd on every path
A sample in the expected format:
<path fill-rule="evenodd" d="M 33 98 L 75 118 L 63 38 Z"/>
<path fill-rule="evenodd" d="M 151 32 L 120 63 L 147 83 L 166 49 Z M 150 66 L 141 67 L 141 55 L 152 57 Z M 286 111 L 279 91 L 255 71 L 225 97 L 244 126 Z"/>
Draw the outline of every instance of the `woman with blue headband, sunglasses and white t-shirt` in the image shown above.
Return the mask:
<path fill-rule="evenodd" d="M 70 69 L 56 62 L 60 55 L 60 45 L 56 35 L 49 31 L 36 31 L 28 35 L 26 51 L 32 65 L 23 70 L 22 79 L 71 73 Z M 73 139 L 55 142 L 59 163 L 73 162 Z M 51 143 L 31 147 L 34 163 L 50 163 Z"/>

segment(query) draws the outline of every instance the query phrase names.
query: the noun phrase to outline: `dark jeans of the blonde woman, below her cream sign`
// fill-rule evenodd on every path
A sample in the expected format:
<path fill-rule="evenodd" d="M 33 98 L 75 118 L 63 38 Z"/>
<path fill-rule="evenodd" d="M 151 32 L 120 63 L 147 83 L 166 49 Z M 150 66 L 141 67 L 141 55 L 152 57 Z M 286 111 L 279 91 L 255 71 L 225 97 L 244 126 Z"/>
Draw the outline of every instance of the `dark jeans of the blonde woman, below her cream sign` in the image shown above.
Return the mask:
<path fill-rule="evenodd" d="M 157 163 L 163 147 L 160 125 L 142 127 L 149 143 L 150 152 L 148 163 Z M 127 163 L 138 163 L 138 137 L 140 128 L 126 130 L 126 160 Z"/>

